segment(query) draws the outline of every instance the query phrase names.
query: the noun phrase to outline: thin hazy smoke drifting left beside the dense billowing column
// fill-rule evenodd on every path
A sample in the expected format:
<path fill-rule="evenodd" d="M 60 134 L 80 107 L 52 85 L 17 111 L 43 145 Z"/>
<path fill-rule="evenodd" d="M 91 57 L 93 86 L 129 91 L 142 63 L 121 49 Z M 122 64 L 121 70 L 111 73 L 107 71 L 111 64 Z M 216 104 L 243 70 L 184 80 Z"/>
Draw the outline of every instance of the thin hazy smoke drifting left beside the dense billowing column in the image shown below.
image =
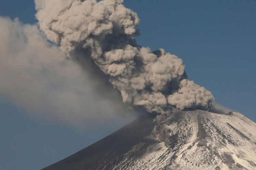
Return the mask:
<path fill-rule="evenodd" d="M 2 99 L 36 119 L 79 131 L 98 130 L 111 121 L 116 126 L 124 123 L 116 115 L 131 112 L 129 106 L 94 63 L 86 61 L 81 67 L 68 59 L 36 25 L 6 17 L 0 17 L 0 23 Z"/>

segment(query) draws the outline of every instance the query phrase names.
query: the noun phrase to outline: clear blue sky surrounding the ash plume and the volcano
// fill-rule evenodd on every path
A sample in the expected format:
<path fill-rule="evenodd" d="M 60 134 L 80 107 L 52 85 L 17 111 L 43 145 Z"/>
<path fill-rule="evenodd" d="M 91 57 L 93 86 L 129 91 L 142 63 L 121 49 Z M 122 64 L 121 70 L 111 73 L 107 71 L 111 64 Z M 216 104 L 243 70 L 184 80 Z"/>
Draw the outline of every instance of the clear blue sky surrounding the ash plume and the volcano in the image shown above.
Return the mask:
<path fill-rule="evenodd" d="M 0 0 L 0 16 L 35 23 L 32 0 Z M 216 102 L 256 122 L 256 1 L 125 0 L 141 19 L 138 44 L 183 59 L 190 80 Z M 1 24 L 1 23 L 0 23 Z M 96 132 L 47 124 L 0 97 L 0 169 L 40 169 L 119 129 Z"/>

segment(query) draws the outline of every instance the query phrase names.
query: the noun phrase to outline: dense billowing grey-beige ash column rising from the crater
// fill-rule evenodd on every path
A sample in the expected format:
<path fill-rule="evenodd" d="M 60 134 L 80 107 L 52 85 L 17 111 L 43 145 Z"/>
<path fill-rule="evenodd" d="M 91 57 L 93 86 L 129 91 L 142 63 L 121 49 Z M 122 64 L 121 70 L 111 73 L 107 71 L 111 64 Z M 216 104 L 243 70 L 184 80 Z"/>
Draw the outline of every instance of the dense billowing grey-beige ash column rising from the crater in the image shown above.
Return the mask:
<path fill-rule="evenodd" d="M 212 93 L 187 79 L 182 60 L 137 45 L 140 19 L 123 0 L 35 0 L 40 29 L 68 54 L 84 49 L 110 77 L 123 102 L 148 112 L 210 110 Z M 72 55 L 70 55 L 72 56 Z"/>

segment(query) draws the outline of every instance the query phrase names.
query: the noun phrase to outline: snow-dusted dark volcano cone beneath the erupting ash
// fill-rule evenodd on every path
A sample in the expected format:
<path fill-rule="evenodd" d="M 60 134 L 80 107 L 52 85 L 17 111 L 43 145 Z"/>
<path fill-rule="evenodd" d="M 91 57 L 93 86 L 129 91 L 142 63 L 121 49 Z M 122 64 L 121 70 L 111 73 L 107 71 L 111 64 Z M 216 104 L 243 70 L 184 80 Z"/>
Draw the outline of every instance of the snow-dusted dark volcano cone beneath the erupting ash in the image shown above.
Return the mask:
<path fill-rule="evenodd" d="M 256 123 L 238 112 L 147 114 L 44 170 L 256 169 Z"/>

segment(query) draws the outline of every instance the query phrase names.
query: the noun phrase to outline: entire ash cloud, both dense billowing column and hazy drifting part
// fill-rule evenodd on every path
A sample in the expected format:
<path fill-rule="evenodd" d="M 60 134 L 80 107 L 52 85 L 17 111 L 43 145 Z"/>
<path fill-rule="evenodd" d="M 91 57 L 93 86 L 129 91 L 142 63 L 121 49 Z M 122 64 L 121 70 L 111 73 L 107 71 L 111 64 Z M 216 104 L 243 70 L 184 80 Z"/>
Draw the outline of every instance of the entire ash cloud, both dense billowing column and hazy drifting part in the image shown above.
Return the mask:
<path fill-rule="evenodd" d="M 122 2 L 35 0 L 45 34 L 0 17 L 0 95 L 33 117 L 77 129 L 118 120 L 134 112 L 130 104 L 157 113 L 211 110 L 215 98 L 187 79 L 180 58 L 136 43 L 140 20 Z"/>

